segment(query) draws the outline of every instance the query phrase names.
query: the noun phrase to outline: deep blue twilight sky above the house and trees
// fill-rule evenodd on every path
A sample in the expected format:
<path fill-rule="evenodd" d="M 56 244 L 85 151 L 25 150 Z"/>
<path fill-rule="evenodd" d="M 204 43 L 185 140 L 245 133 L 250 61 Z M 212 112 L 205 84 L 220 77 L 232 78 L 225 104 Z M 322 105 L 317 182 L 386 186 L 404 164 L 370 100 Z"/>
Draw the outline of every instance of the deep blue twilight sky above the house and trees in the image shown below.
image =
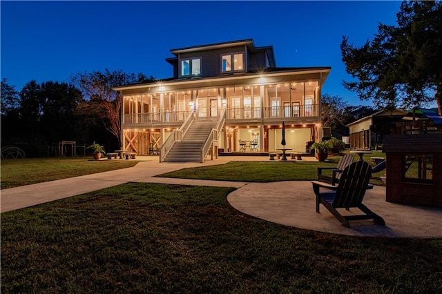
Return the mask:
<path fill-rule="evenodd" d="M 369 105 L 345 90 L 343 35 L 356 46 L 378 23 L 395 24 L 400 1 L 1 1 L 1 77 L 68 81 L 76 72 L 172 76 L 170 50 L 253 39 L 273 45 L 276 66 L 332 66 L 323 94 Z"/>

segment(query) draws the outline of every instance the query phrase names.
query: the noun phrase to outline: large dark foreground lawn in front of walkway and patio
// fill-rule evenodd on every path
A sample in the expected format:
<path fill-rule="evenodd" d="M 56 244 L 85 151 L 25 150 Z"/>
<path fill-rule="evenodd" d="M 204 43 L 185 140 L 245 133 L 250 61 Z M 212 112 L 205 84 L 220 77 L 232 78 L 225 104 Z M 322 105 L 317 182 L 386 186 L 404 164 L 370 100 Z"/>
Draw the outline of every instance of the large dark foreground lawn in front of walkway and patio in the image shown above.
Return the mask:
<path fill-rule="evenodd" d="M 124 184 L 1 214 L 2 293 L 441 293 L 442 240 L 238 213 L 233 188 Z"/>

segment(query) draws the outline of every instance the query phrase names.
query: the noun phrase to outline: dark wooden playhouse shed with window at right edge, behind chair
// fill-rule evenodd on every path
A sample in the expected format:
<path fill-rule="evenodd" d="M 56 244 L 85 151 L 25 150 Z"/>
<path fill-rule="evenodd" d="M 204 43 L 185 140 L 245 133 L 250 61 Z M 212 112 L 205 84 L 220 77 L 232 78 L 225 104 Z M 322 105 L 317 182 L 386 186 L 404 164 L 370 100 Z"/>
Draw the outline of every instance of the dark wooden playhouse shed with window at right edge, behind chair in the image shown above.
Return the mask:
<path fill-rule="evenodd" d="M 386 200 L 442 208 L 442 133 L 387 135 Z"/>

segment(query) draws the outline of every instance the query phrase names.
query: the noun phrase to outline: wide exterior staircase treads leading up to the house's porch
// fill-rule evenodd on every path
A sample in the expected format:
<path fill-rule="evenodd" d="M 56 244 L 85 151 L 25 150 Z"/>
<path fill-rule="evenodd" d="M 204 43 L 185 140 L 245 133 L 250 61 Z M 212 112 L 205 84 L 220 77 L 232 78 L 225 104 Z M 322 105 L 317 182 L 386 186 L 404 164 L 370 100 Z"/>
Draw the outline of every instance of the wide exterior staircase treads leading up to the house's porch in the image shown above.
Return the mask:
<path fill-rule="evenodd" d="M 193 121 L 181 141 L 175 141 L 164 162 L 200 162 L 201 150 L 217 121 Z"/>

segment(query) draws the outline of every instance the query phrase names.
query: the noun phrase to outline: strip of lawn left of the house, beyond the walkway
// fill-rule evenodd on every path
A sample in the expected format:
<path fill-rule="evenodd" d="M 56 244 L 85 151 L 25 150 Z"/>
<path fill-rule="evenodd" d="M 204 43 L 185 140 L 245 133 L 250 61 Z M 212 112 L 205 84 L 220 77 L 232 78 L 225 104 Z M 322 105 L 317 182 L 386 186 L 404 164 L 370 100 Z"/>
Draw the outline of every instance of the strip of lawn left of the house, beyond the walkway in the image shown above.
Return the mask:
<path fill-rule="evenodd" d="M 1 188 L 36 184 L 129 168 L 139 161 L 90 160 L 91 157 L 1 159 Z"/>

